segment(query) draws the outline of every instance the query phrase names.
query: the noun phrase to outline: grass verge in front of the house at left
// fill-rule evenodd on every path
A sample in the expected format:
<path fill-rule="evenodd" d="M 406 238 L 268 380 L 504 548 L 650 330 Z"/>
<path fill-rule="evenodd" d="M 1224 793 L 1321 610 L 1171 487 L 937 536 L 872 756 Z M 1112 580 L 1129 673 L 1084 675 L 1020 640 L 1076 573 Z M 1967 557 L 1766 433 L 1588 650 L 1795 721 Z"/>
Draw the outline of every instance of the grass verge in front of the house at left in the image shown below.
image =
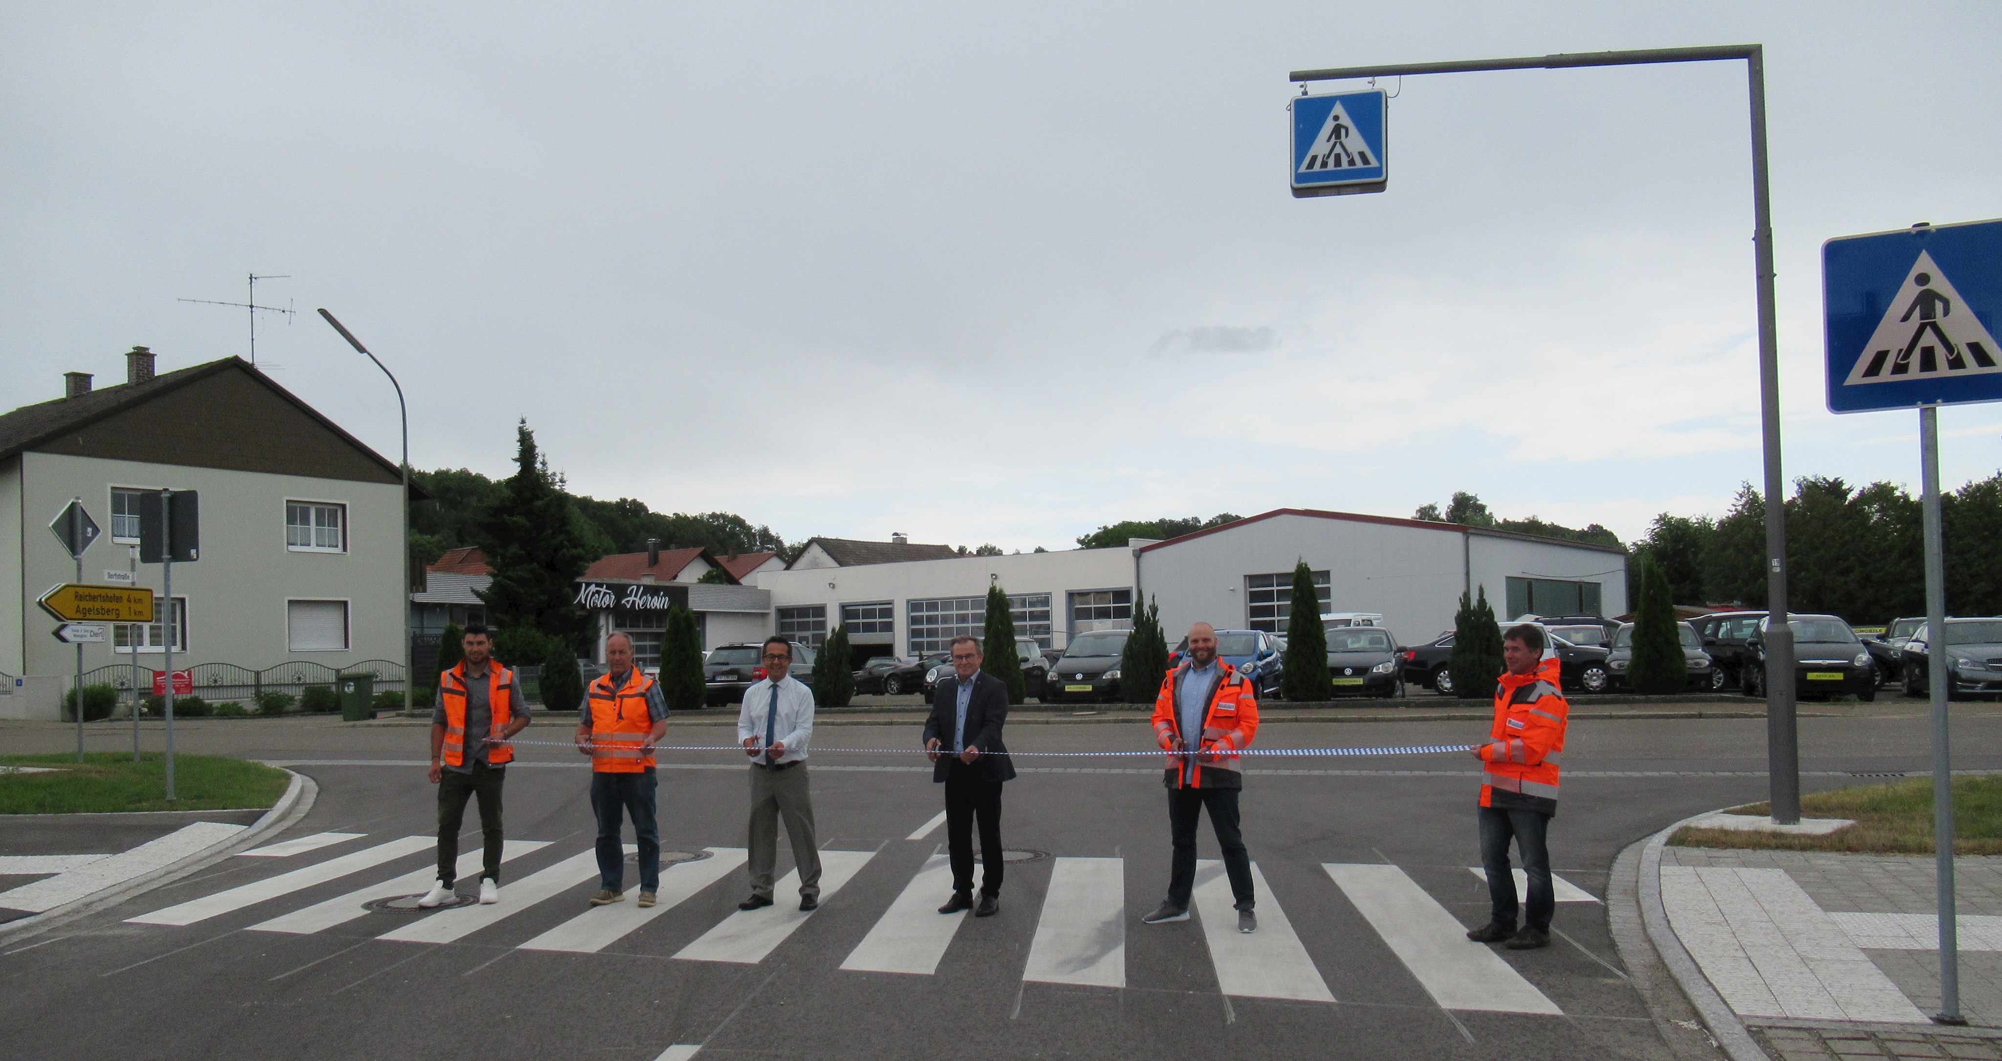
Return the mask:
<path fill-rule="evenodd" d="M 166 757 L 146 753 L 4 755 L 0 765 L 52 767 L 0 773 L 0 815 L 114 811 L 242 811 L 278 803 L 292 781 L 284 771 L 226 755 L 174 755 L 174 795 L 166 797 Z"/>

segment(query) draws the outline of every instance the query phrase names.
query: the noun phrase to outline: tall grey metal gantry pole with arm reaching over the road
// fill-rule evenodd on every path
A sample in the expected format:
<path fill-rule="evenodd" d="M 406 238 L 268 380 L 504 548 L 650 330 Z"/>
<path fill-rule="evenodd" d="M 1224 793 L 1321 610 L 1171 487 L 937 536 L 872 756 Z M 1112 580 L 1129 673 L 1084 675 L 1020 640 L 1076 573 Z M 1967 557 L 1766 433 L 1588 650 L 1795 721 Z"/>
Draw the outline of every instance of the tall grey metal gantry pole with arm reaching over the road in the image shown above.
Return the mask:
<path fill-rule="evenodd" d="M 1758 292 L 1760 434 L 1766 462 L 1766 769 L 1776 823 L 1800 821 L 1800 745 L 1794 719 L 1794 633 L 1786 625 L 1786 476 L 1780 470 L 1780 342 L 1772 292 L 1772 194 L 1766 180 L 1766 52 L 1760 44 L 1648 48 L 1459 62 L 1403 62 L 1293 70 L 1289 80 L 1351 80 L 1483 70 L 1570 70 L 1664 62 L 1744 60 L 1752 106 L 1752 256 Z"/>

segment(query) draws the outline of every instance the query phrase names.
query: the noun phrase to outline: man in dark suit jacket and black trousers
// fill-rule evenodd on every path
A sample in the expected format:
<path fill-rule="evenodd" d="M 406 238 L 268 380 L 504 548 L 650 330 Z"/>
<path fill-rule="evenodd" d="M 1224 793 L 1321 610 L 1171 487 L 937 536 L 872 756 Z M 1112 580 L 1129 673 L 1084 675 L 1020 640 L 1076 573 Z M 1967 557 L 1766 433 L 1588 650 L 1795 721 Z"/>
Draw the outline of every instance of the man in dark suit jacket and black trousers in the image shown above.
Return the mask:
<path fill-rule="evenodd" d="M 1007 723 L 1007 683 L 981 673 L 981 643 L 953 639 L 953 677 L 939 683 L 925 719 L 931 781 L 945 785 L 945 839 L 953 857 L 953 897 L 939 913 L 1001 909 L 1001 783 L 1015 763 L 1001 743 Z M 973 905 L 973 821 L 981 823 L 981 903 Z"/>

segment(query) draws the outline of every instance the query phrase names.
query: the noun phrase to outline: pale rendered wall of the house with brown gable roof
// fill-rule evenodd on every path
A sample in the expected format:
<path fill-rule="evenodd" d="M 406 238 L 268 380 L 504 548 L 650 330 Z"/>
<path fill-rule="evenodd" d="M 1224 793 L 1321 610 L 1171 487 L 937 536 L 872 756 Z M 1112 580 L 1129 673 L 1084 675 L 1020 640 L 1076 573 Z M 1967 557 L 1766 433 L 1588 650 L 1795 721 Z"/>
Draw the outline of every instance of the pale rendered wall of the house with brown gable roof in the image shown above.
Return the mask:
<path fill-rule="evenodd" d="M 76 579 L 76 567 L 46 524 L 72 496 L 84 498 L 104 535 L 84 553 L 84 581 L 102 583 L 104 571 L 128 567 L 128 547 L 112 541 L 110 490 L 174 488 L 200 492 L 202 551 L 198 563 L 174 565 L 174 597 L 188 601 L 188 645 L 174 653 L 174 667 L 236 663 L 262 669 L 282 661 L 316 661 L 348 667 L 362 661 L 402 661 L 402 502 L 394 482 L 352 482 L 180 464 L 144 464 L 26 452 L 12 492 L 22 514 L 10 526 L 26 528 L 12 557 L 24 563 L 18 579 L 20 609 L 6 621 L 26 637 L 8 637 L 8 651 L 26 657 L 20 673 L 64 675 L 76 667 L 74 649 L 42 631 L 46 621 L 36 597 Z M 340 502 L 346 506 L 344 553 L 286 549 L 286 500 Z M 140 565 L 138 585 L 160 593 L 160 565 Z M 346 601 L 346 651 L 292 651 L 286 641 L 286 601 Z M 0 637 L 8 635 L 0 625 Z M 0 657 L 4 661 L 6 657 Z M 84 667 L 112 659 L 110 645 L 86 645 Z M 140 665 L 158 669 L 160 653 L 142 651 Z M 6 663 L 0 663 L 4 669 Z"/>

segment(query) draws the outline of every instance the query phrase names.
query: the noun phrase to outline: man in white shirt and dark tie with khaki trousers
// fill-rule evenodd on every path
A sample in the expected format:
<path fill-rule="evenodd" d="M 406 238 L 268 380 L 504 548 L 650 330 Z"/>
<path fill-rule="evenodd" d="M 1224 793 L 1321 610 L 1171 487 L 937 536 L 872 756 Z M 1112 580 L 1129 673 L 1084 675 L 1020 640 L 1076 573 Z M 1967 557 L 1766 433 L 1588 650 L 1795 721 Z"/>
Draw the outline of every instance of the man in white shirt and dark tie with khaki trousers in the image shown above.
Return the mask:
<path fill-rule="evenodd" d="M 813 691 L 791 677 L 793 643 L 765 639 L 765 681 L 745 689 L 737 739 L 751 757 L 751 899 L 741 911 L 771 905 L 771 873 L 779 863 L 779 819 L 799 867 L 799 909 L 821 905 L 821 845 L 813 839 L 813 791 L 807 785 L 807 741 L 813 737 Z"/>

